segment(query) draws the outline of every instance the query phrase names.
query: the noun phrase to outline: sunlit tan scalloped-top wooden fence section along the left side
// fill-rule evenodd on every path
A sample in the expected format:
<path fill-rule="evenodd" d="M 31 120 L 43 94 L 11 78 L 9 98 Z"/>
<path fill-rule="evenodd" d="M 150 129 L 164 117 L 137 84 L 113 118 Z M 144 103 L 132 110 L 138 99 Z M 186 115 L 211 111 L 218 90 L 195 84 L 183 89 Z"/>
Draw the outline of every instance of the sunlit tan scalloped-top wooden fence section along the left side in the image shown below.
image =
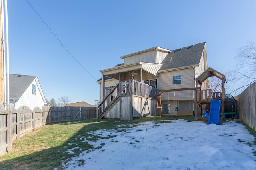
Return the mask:
<path fill-rule="evenodd" d="M 0 156 L 12 150 L 14 140 L 50 123 L 49 110 L 49 106 L 35 107 L 33 111 L 28 106 L 21 106 L 15 110 L 13 104 L 5 109 L 0 104 Z"/>

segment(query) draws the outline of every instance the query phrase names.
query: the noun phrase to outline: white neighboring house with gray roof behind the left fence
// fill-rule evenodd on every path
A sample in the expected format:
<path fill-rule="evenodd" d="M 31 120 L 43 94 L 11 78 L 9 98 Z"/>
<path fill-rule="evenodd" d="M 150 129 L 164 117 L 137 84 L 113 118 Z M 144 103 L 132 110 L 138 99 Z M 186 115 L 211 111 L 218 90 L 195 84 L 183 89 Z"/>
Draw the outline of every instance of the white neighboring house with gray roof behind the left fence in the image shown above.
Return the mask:
<path fill-rule="evenodd" d="M 10 103 L 15 109 L 28 106 L 31 110 L 47 104 L 37 76 L 10 74 Z"/>

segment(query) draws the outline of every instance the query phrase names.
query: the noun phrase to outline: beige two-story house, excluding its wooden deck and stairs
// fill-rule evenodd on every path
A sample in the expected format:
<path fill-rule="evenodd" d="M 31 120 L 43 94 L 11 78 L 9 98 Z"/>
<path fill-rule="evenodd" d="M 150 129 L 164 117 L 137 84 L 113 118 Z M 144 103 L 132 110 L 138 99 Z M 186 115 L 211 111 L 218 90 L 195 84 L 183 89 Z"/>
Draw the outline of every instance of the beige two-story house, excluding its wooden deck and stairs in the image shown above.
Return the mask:
<path fill-rule="evenodd" d="M 205 42 L 176 50 L 153 47 L 120 58 L 123 64 L 100 70 L 100 102 L 104 99 L 103 87 L 116 86 L 132 77 L 159 90 L 194 88 L 195 78 L 207 69 Z M 202 86 L 207 88 L 208 81 Z M 166 115 L 192 115 L 195 110 L 193 90 L 164 92 L 161 100 Z M 176 111 L 175 107 L 180 109 Z"/>

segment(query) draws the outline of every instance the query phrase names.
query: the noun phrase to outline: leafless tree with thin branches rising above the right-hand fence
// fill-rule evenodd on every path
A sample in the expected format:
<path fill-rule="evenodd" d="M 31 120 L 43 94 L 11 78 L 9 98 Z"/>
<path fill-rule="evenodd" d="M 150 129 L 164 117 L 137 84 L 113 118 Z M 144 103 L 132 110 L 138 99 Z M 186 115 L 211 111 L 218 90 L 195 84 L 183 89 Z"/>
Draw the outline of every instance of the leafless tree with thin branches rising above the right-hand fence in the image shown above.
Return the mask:
<path fill-rule="evenodd" d="M 232 74 L 240 87 L 233 91 L 235 93 L 242 92 L 256 82 L 256 41 L 248 41 L 246 46 L 240 48 L 237 59 L 237 68 Z"/>

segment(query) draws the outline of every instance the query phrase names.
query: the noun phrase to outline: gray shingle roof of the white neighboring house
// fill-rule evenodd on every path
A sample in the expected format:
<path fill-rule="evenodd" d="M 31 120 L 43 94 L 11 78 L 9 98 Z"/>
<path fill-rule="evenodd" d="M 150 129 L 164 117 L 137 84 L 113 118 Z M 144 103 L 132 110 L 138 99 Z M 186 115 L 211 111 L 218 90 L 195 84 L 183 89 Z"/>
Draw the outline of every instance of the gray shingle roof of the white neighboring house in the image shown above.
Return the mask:
<path fill-rule="evenodd" d="M 28 86 L 35 80 L 36 76 L 9 74 L 10 99 L 19 99 L 27 90 Z"/>

